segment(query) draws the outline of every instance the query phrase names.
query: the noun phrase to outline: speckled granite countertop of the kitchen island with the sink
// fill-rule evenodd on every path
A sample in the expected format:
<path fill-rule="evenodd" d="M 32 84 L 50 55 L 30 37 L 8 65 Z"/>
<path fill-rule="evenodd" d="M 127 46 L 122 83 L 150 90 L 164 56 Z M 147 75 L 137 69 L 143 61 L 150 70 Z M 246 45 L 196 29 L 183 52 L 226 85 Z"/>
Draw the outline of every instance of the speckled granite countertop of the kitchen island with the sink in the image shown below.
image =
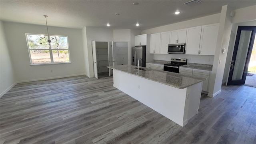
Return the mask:
<path fill-rule="evenodd" d="M 134 70 L 133 65 L 119 65 L 119 66 L 107 66 L 107 67 L 114 70 L 119 70 L 121 72 L 125 72 L 128 74 L 132 74 L 134 76 L 139 76 L 142 78 L 146 78 L 148 80 L 166 84 L 168 86 L 180 88 L 180 89 L 187 88 L 198 82 L 202 82 L 206 80 L 205 78 L 186 76 L 186 75 L 178 74 L 174 72 L 166 72 L 162 70 L 153 70 L 148 68 L 146 69 L 148 69 L 149 71 L 144 71 L 144 70 L 138 71 L 138 69 Z"/>

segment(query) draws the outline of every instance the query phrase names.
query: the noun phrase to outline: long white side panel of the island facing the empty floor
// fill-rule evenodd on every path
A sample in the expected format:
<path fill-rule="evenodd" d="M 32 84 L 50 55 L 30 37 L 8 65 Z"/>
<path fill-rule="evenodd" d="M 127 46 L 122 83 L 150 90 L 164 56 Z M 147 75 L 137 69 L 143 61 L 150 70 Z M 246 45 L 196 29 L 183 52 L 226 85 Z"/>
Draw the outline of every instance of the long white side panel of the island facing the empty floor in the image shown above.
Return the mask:
<path fill-rule="evenodd" d="M 187 88 L 174 88 L 118 70 L 113 72 L 115 88 L 132 96 L 180 126 L 184 126 Z"/>

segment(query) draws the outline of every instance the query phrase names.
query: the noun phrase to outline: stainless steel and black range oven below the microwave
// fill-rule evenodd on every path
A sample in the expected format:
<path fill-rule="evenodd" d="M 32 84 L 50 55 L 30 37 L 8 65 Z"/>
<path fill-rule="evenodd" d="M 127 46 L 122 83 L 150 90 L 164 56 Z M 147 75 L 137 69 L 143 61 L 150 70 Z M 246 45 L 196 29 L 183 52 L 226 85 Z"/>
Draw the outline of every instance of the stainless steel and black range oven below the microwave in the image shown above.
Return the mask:
<path fill-rule="evenodd" d="M 171 58 L 171 63 L 164 64 L 164 70 L 179 73 L 180 66 L 187 64 L 186 58 Z"/>

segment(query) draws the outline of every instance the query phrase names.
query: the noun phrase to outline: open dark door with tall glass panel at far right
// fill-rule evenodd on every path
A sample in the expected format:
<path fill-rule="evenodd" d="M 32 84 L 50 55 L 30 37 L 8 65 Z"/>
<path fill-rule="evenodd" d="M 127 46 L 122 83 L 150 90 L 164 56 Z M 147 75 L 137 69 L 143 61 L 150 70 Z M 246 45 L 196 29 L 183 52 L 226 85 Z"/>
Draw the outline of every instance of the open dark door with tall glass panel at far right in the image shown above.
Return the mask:
<path fill-rule="evenodd" d="M 244 84 L 252 53 L 256 26 L 238 26 L 227 85 Z"/>

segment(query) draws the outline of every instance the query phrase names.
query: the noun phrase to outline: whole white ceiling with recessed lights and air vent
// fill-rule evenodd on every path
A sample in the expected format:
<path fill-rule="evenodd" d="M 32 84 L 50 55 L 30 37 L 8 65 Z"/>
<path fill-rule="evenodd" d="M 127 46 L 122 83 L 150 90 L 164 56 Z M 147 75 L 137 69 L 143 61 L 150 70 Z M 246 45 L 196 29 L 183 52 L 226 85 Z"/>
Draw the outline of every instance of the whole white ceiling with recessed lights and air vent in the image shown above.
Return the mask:
<path fill-rule="evenodd" d="M 256 0 L 202 0 L 196 6 L 189 0 L 6 0 L 0 1 L 1 20 L 49 26 L 146 30 L 221 12 L 228 4 L 233 9 L 256 5 Z M 138 5 L 133 5 L 138 2 Z M 175 11 L 181 11 L 175 15 Z M 116 16 L 115 13 L 120 15 Z M 140 23 L 136 27 L 136 23 Z"/>

